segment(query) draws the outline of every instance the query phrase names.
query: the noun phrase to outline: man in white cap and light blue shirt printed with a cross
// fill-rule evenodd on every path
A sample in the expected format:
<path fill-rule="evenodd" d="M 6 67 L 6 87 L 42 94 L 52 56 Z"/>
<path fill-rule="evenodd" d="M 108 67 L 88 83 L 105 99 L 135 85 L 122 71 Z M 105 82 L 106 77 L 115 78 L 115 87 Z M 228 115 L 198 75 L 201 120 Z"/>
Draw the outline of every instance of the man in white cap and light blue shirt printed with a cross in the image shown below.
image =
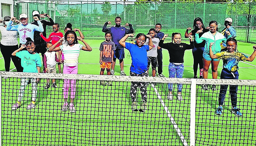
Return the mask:
<path fill-rule="evenodd" d="M 28 23 L 28 16 L 26 14 L 20 14 L 19 20 L 21 24 L 12 25 L 13 21 L 15 21 L 15 17 L 11 17 L 11 21 L 9 21 L 6 25 L 6 30 L 15 30 L 19 33 L 19 47 L 21 44 L 25 44 L 27 42 L 26 38 L 30 37 L 34 41 L 34 31 L 43 32 L 44 28 L 42 26 L 41 21 L 38 21 L 39 18 L 35 18 L 38 23 L 38 26 Z"/>

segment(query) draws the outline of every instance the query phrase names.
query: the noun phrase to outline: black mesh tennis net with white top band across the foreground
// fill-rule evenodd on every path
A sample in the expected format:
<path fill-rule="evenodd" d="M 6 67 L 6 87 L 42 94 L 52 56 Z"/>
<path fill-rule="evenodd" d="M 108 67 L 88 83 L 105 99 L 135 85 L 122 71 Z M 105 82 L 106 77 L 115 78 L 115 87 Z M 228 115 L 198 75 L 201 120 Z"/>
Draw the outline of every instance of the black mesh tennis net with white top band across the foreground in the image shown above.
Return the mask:
<path fill-rule="evenodd" d="M 2 145 L 100 145 L 100 146 L 200 146 L 256 144 L 254 80 L 209 80 L 157 77 L 130 77 L 82 74 L 42 74 L 0 72 Z M 38 84 L 34 83 L 40 78 Z M 21 81 L 26 83 L 24 98 L 16 110 Z M 57 88 L 45 89 L 47 79 L 56 79 Z M 63 111 L 65 81 L 75 85 L 73 106 Z M 130 98 L 131 82 L 147 83 L 147 109 L 138 88 L 137 110 Z M 167 95 L 173 83 L 173 99 Z M 182 83 L 182 100 L 177 85 Z M 220 85 L 238 85 L 237 105 L 232 113 L 227 91 L 222 115 Z M 110 85 L 111 84 L 111 85 Z M 209 84 L 209 90 L 203 85 Z M 216 85 L 217 90 L 210 87 Z M 36 86 L 36 106 L 28 109 Z M 63 87 L 64 90 L 63 90 Z M 73 86 L 74 87 L 74 86 Z M 69 95 L 72 92 L 69 91 Z M 68 96 L 68 103 L 71 103 Z M 134 108 L 133 108 L 134 109 Z"/>

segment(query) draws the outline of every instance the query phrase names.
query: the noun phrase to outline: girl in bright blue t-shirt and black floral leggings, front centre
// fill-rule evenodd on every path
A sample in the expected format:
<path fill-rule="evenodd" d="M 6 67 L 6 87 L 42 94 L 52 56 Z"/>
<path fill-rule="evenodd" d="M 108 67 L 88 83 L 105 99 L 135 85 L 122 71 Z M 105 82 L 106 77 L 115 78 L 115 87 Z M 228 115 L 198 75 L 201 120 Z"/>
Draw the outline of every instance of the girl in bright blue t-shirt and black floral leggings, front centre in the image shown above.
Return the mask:
<path fill-rule="evenodd" d="M 133 34 L 126 34 L 120 41 L 120 45 L 125 47 L 130 51 L 131 54 L 131 67 L 130 67 L 130 75 L 131 76 L 141 76 L 147 77 L 147 51 L 153 48 L 152 38 L 150 35 L 145 35 L 139 33 L 136 38 L 135 44 L 126 43 L 125 40 L 128 37 L 133 37 Z M 149 45 L 144 45 L 146 42 L 146 38 L 149 39 Z M 141 90 L 141 98 L 143 103 L 141 104 L 141 111 L 145 111 L 147 109 L 147 83 L 146 82 L 131 82 L 131 109 L 133 111 L 137 110 L 137 102 L 136 102 L 136 92 L 139 87 Z"/>

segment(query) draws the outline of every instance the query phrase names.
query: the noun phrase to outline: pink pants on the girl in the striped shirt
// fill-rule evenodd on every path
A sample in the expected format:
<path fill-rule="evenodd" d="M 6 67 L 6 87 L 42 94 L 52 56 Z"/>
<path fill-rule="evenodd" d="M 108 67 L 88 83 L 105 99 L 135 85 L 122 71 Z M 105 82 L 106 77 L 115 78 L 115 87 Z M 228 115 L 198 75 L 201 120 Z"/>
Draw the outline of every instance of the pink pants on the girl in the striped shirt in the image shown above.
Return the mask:
<path fill-rule="evenodd" d="M 77 74 L 78 66 L 63 67 L 63 74 Z M 64 79 L 64 99 L 68 98 L 68 90 L 70 88 L 70 98 L 74 99 L 76 94 L 76 80 Z"/>

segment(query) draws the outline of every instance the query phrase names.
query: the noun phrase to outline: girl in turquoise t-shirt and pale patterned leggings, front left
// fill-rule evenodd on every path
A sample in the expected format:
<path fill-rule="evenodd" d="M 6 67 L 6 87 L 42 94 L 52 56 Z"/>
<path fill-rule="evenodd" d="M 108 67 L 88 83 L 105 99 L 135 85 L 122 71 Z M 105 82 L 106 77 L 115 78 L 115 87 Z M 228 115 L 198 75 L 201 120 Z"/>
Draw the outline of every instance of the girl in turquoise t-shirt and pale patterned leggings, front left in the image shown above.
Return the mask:
<path fill-rule="evenodd" d="M 26 50 L 21 51 L 26 48 Z M 27 38 L 26 45 L 22 44 L 21 47 L 14 51 L 11 55 L 17 56 L 21 58 L 21 66 L 23 67 L 23 72 L 31 72 L 36 73 L 40 72 L 40 67 L 42 66 L 41 59 L 38 53 L 35 51 L 35 43 L 31 40 L 31 38 Z M 27 109 L 34 109 L 36 107 L 36 95 L 37 95 L 37 83 L 39 79 L 36 78 L 21 78 L 21 87 L 19 88 L 19 95 L 17 103 L 13 104 L 12 110 L 16 110 L 21 106 L 21 100 L 24 96 L 24 91 L 26 85 L 28 85 L 29 80 L 32 83 L 32 102 L 28 105 Z"/>

